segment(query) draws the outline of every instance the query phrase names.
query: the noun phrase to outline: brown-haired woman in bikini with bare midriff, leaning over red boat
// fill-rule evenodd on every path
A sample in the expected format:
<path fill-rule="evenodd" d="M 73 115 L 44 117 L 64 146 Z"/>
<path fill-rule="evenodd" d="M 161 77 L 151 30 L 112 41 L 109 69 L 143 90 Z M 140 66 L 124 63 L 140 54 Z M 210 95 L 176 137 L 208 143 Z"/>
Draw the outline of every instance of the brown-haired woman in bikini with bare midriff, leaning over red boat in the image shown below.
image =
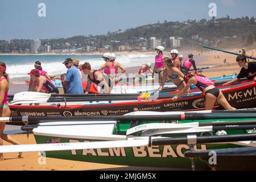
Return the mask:
<path fill-rule="evenodd" d="M 170 77 L 172 82 L 174 82 L 174 84 L 177 86 L 177 90 L 182 90 L 185 88 L 186 84 L 183 80 L 184 75 L 178 68 L 175 67 L 170 57 L 164 57 L 163 66 L 166 69 L 163 72 L 163 78 L 159 87 L 159 92 L 162 91 L 168 77 Z"/>

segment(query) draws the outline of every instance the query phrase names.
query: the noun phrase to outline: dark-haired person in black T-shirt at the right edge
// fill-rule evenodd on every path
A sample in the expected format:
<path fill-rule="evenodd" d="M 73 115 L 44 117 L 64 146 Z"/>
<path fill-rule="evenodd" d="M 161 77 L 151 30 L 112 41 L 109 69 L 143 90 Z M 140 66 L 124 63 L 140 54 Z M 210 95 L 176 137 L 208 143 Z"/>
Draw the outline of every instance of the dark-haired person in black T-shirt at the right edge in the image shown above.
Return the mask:
<path fill-rule="evenodd" d="M 226 84 L 232 84 L 233 82 L 239 81 L 241 78 L 246 77 L 248 80 L 256 80 L 256 62 L 247 63 L 245 55 L 237 56 L 237 63 L 240 66 L 241 71 L 236 78 L 226 82 Z"/>

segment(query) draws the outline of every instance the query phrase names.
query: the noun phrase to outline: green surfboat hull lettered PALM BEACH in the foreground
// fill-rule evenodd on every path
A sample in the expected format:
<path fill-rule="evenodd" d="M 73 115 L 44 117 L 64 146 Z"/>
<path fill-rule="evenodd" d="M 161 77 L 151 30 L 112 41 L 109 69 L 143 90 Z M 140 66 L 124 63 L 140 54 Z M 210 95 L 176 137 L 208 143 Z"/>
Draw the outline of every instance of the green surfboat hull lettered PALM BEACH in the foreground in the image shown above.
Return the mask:
<path fill-rule="evenodd" d="M 239 121 L 252 121 L 254 119 L 239 119 Z M 218 121 L 238 121 L 238 119 L 218 119 Z M 169 121 L 167 121 L 168 123 Z M 189 123 L 192 121 L 179 121 L 179 123 Z M 193 121 L 193 122 L 216 122 L 216 119 Z M 158 123 L 158 122 L 142 122 Z M 114 135 L 125 135 L 130 128 L 131 122 L 117 122 L 113 129 Z M 226 130 L 228 135 L 247 134 L 248 130 Z M 139 133 L 137 134 L 139 135 Z M 214 131 L 207 133 L 197 133 L 200 135 L 216 135 Z M 69 142 L 96 142 L 104 141 L 97 139 L 61 137 L 59 135 L 38 135 L 34 134 L 36 143 L 69 143 Z M 162 137 L 183 137 L 187 134 L 168 134 Z M 197 144 L 195 150 L 217 150 L 222 148 L 245 147 L 238 143 L 216 143 L 216 144 Z M 128 148 L 105 148 L 90 150 L 73 151 L 51 151 L 46 152 L 47 158 L 67 159 L 80 162 L 104 163 L 122 166 L 141 166 L 141 167 L 163 167 L 163 168 L 191 168 L 191 159 L 184 157 L 184 152 L 189 151 L 187 144 L 153 146 L 153 147 L 128 147 Z M 200 159 L 195 159 L 197 169 L 210 169 L 208 164 Z"/>

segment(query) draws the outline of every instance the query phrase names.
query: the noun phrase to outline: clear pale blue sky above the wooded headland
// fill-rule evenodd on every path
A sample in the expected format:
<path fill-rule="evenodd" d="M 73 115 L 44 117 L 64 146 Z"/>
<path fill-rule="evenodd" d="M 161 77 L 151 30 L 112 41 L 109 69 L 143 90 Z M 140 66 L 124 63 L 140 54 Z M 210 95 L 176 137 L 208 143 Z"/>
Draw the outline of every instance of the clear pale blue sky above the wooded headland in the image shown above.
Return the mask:
<path fill-rule="evenodd" d="M 0 40 L 99 35 L 158 20 L 210 19 L 212 2 L 217 18 L 256 17 L 255 0 L 0 0 Z M 39 3 L 46 4 L 46 17 L 38 16 Z"/>

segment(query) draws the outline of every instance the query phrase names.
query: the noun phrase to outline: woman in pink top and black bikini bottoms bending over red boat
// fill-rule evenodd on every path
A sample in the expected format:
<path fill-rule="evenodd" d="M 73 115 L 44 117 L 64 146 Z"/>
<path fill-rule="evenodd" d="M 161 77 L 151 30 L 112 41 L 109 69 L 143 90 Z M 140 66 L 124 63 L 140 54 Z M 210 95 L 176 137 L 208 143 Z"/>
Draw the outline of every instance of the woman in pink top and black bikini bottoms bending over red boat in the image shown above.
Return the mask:
<path fill-rule="evenodd" d="M 212 110 L 215 101 L 217 100 L 226 110 L 236 110 L 230 106 L 229 102 L 224 97 L 221 90 L 216 88 L 212 81 L 204 75 L 188 74 L 184 76 L 184 81 L 187 84 L 183 90 L 180 91 L 173 100 L 177 100 L 184 93 L 187 93 L 192 84 L 196 85 L 205 94 L 205 110 Z"/>

